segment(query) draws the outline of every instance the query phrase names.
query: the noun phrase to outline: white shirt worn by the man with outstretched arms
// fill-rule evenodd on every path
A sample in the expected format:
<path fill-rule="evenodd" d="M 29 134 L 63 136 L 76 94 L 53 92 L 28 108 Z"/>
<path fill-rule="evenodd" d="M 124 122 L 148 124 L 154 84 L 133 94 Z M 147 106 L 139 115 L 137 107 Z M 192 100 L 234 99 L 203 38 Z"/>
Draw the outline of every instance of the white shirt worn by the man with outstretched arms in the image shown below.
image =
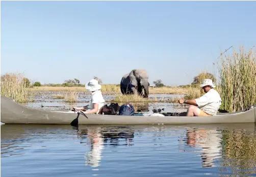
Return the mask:
<path fill-rule="evenodd" d="M 198 108 L 206 112 L 207 114 L 215 116 L 221 105 L 221 98 L 219 93 L 211 89 L 200 98 L 195 99 Z"/>

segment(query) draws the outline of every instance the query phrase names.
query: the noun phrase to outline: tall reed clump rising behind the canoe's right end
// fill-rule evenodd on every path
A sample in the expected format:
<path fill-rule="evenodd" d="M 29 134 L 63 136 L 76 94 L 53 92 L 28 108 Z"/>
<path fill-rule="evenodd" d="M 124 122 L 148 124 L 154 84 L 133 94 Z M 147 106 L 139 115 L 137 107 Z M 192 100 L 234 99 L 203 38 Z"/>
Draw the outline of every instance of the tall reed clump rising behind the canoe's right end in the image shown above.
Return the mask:
<path fill-rule="evenodd" d="M 256 62 L 255 52 L 250 49 L 240 53 L 233 49 L 233 55 L 221 57 L 218 91 L 222 98 L 221 109 L 229 112 L 241 111 L 256 104 Z"/>

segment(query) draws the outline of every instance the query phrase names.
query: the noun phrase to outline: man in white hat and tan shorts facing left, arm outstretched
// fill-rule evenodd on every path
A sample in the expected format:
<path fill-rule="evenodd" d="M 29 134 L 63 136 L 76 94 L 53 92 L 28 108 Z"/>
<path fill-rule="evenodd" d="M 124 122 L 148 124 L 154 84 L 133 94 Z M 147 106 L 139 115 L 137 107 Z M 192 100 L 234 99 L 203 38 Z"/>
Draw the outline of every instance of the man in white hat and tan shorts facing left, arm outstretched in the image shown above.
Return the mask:
<path fill-rule="evenodd" d="M 190 104 L 187 116 L 215 116 L 221 105 L 219 93 L 214 89 L 215 85 L 211 79 L 204 79 L 200 85 L 204 95 L 196 99 L 180 99 L 180 104 Z"/>

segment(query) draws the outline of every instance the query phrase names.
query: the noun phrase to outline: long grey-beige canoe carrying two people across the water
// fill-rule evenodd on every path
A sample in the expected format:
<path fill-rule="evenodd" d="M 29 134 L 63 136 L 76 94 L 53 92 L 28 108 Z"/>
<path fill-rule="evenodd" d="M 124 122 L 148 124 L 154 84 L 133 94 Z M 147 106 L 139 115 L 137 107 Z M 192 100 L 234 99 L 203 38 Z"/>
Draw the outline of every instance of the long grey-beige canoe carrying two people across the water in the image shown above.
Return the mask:
<path fill-rule="evenodd" d="M 1 96 L 1 122 L 5 124 L 210 124 L 252 123 L 256 121 L 256 106 L 234 113 L 218 113 L 211 117 L 186 116 L 119 116 L 78 114 L 73 111 L 56 111 L 28 108 L 12 99 Z"/>

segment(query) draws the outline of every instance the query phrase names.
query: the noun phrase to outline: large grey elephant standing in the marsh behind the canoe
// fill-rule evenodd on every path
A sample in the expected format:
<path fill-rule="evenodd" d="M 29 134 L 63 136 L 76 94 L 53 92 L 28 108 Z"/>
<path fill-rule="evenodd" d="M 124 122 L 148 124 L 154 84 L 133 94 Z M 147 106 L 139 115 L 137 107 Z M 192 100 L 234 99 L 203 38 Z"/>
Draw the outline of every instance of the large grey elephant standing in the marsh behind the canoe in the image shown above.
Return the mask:
<path fill-rule="evenodd" d="M 148 98 L 148 87 L 148 75 L 145 69 L 133 69 L 125 74 L 120 82 L 122 94 L 139 94 L 144 98 Z"/>

